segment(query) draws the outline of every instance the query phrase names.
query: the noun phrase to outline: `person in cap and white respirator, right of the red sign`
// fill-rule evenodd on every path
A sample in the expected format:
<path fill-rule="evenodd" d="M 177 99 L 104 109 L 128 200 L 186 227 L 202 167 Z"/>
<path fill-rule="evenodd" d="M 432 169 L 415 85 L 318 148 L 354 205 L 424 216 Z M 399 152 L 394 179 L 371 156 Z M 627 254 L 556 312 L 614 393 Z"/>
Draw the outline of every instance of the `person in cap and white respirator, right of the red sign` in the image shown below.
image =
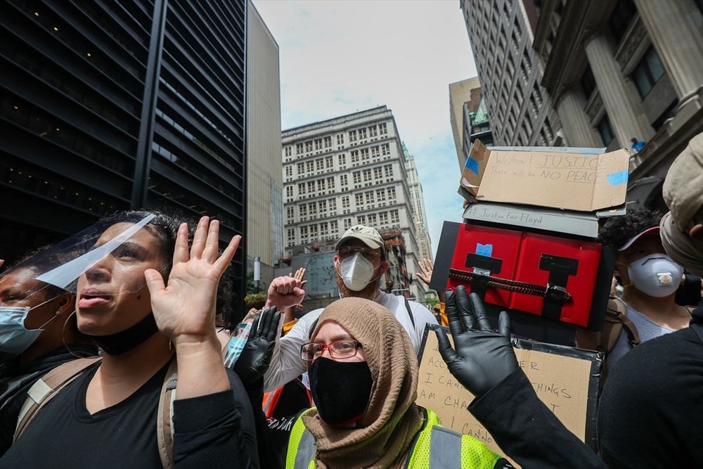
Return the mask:
<path fill-rule="evenodd" d="M 608 219 L 598 233 L 601 243 L 617 250 L 615 276 L 623 293 L 614 301 L 623 303 L 640 342 L 688 327 L 690 321 L 688 309 L 674 302 L 683 268 L 664 252 L 660 219 L 659 212 L 633 210 Z M 623 328 L 607 355 L 609 371 L 632 348 L 631 337 Z"/>

